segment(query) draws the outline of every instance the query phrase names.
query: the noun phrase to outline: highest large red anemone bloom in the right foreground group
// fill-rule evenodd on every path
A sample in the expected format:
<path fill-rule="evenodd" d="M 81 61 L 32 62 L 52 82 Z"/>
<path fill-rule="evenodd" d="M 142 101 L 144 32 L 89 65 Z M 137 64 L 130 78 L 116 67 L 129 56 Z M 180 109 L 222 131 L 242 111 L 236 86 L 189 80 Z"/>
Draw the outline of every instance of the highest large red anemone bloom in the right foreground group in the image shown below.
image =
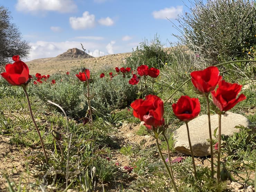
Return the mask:
<path fill-rule="evenodd" d="M 190 75 L 193 85 L 201 93 L 213 91 L 222 78 L 218 67 L 215 66 L 207 67 L 201 71 L 193 71 Z"/>

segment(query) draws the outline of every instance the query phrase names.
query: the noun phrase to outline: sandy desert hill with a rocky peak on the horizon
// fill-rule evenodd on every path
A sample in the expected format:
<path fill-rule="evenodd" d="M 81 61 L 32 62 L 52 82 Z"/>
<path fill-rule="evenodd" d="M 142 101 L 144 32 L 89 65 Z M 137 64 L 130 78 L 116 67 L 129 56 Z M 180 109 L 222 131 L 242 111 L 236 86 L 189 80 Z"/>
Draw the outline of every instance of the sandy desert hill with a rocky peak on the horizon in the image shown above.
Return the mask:
<path fill-rule="evenodd" d="M 80 49 L 72 48 L 66 52 L 49 58 L 40 58 L 26 62 L 29 68 L 29 73 L 35 75 L 36 73 L 49 74 L 66 73 L 72 68 L 79 68 L 81 64 L 89 69 L 96 71 L 105 70 L 107 68 L 115 68 L 123 65 L 125 58 L 131 53 L 119 53 L 113 55 L 105 55 L 101 57 L 92 57 L 84 53 Z"/>

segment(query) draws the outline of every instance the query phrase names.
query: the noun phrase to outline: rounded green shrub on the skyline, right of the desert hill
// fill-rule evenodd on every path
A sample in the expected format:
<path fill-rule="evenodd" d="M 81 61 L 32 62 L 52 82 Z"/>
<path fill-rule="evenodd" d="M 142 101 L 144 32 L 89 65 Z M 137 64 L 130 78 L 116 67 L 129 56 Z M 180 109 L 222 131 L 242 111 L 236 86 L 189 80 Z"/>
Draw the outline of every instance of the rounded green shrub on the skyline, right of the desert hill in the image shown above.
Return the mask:
<path fill-rule="evenodd" d="M 134 69 L 140 65 L 148 65 L 149 68 L 160 68 L 163 66 L 162 63 L 170 63 L 172 59 L 163 47 L 157 36 L 150 43 L 145 39 L 132 52 L 131 56 L 126 58 L 126 65 Z"/>

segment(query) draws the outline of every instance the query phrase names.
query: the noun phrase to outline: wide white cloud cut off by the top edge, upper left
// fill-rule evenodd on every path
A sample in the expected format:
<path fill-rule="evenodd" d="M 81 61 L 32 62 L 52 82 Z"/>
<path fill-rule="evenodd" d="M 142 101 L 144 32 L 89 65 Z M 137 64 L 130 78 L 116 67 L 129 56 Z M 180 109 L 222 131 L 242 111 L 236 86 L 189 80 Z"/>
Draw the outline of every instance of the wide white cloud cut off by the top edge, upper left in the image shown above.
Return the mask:
<path fill-rule="evenodd" d="M 18 11 L 57 11 L 61 13 L 74 12 L 77 6 L 73 0 L 18 0 L 15 5 Z"/>

